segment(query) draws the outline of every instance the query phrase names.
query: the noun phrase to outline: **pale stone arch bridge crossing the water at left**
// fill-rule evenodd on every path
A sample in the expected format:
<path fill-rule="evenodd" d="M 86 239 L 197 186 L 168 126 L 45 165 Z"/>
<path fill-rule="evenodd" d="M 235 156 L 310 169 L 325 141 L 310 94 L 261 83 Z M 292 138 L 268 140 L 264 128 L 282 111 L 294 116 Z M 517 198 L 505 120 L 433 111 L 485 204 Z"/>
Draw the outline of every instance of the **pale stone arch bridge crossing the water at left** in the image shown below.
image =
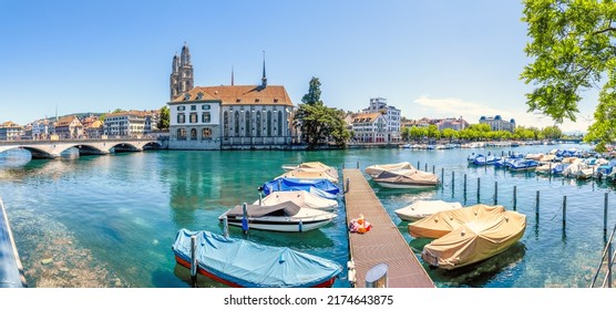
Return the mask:
<path fill-rule="evenodd" d="M 12 148 L 27 149 L 32 158 L 57 158 L 71 147 L 80 155 L 104 155 L 112 151 L 141 152 L 144 148 L 165 148 L 166 141 L 156 138 L 58 140 L 58 141 L 0 141 L 0 153 Z"/>

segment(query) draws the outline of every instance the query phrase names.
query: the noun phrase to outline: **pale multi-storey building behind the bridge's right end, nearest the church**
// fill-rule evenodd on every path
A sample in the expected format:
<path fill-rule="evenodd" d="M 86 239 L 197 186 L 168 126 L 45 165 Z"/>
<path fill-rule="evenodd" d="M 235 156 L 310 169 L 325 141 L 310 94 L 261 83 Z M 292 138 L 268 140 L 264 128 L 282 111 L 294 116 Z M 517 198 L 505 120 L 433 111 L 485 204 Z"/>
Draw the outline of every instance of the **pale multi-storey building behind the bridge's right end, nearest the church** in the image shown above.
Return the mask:
<path fill-rule="evenodd" d="M 105 116 L 104 134 L 107 136 L 142 136 L 145 115 L 141 111 L 123 111 Z"/>

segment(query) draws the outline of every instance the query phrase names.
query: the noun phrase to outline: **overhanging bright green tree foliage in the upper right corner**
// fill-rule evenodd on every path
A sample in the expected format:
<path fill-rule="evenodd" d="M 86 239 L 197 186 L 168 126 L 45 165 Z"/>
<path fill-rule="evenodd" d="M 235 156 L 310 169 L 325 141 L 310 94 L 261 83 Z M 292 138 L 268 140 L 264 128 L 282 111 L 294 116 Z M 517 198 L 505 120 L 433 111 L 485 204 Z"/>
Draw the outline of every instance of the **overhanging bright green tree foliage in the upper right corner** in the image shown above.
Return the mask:
<path fill-rule="evenodd" d="M 540 111 L 557 124 L 575 122 L 579 93 L 597 86 L 598 104 L 585 141 L 605 149 L 616 137 L 616 3 L 525 0 L 522 20 L 533 62 L 521 78 L 535 85 L 526 94 L 528 112 Z"/>

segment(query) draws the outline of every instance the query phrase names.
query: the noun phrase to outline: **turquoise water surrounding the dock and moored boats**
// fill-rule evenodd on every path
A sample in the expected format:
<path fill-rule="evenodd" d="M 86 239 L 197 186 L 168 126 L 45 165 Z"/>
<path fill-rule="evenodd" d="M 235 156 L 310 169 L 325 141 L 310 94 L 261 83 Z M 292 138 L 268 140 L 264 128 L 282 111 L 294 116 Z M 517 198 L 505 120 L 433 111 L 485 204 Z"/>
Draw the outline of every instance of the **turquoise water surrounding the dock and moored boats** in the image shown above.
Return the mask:
<path fill-rule="evenodd" d="M 582 147 L 575 145 L 576 147 Z M 0 153 L 0 196 L 31 287 L 188 287 L 188 271 L 171 250 L 179 228 L 222 232 L 217 217 L 228 207 L 258 199 L 257 187 L 283 173 L 281 165 L 320 161 L 337 167 L 408 161 L 434 170 L 444 185 L 432 190 L 383 189 L 369 180 L 410 246 L 405 221 L 394 209 L 417 199 L 497 203 L 527 217 L 521 241 L 484 262 L 453 271 L 424 266 L 439 287 L 587 287 L 604 246 L 604 193 L 608 230 L 616 221 L 613 188 L 605 184 L 537 177 L 466 164 L 473 152 L 547 152 L 563 146 L 485 149 L 348 149 L 325 152 L 152 151 L 109 156 L 66 155 L 30 161 L 24 151 Z M 452 182 L 452 172 L 454 179 Z M 466 174 L 466 194 L 463 176 Z M 478 197 L 478 178 L 481 189 Z M 535 193 L 541 192 L 540 216 Z M 566 226 L 562 202 L 567 196 Z M 341 205 L 343 206 L 343 200 Z M 288 246 L 346 266 L 343 207 L 333 224 L 302 234 L 250 230 L 249 240 Z M 243 237 L 230 227 L 233 237 Z M 378 255 L 378 254 L 377 254 Z M 346 275 L 346 273 L 345 273 Z M 219 285 L 199 279 L 199 286 Z M 341 277 L 335 287 L 348 287 Z"/>

